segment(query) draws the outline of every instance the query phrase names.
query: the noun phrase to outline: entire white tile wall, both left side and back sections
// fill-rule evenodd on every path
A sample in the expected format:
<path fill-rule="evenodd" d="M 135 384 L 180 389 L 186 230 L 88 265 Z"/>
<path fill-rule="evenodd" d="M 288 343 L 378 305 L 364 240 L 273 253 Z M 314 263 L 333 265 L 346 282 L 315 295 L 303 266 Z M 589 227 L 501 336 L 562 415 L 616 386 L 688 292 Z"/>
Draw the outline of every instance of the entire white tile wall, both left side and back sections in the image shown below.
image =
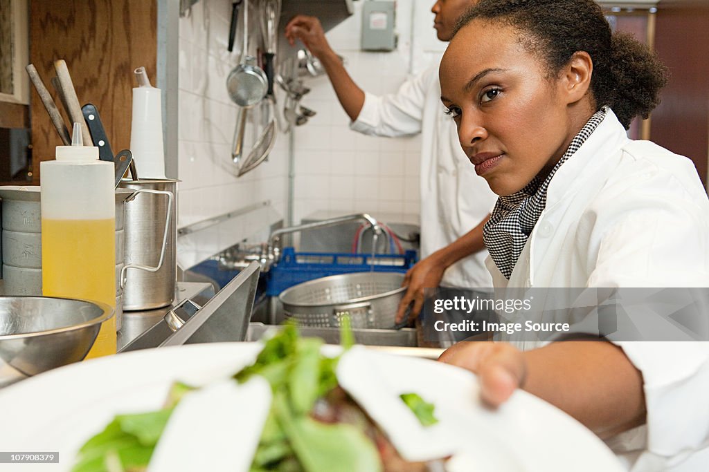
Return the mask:
<path fill-rule="evenodd" d="M 240 41 L 235 52 L 227 51 L 231 4 L 201 0 L 189 17 L 179 20 L 179 226 L 263 200 L 271 200 L 286 215 L 286 135 L 279 134 L 267 163 L 241 178 L 233 175 L 230 146 L 237 107 L 228 98 L 225 82 L 238 62 Z M 396 51 L 359 51 L 361 1 L 354 2 L 353 16 L 328 32 L 354 81 L 372 93 L 396 91 L 408 74 L 426 67 L 445 46 L 435 40 L 432 0 L 396 5 Z M 369 212 L 375 217 L 377 212 L 418 214 L 420 139 L 352 132 L 328 78 L 306 80 L 311 93 L 302 104 L 317 115 L 294 130 L 294 221 L 318 210 Z M 247 134 L 253 142 L 257 134 L 251 124 Z"/>

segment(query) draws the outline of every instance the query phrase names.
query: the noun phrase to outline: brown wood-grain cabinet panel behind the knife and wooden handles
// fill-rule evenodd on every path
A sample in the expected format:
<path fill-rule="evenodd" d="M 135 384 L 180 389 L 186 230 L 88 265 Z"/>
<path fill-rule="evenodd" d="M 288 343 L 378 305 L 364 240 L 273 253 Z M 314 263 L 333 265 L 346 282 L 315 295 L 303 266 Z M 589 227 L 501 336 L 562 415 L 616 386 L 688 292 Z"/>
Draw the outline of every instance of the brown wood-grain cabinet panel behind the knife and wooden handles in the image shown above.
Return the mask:
<path fill-rule="evenodd" d="M 133 70 L 145 66 L 155 83 L 157 1 L 31 1 L 30 62 L 60 106 L 50 85 L 57 59 L 67 62 L 79 103 L 94 103 L 99 109 L 113 152 L 128 149 L 136 86 Z M 40 161 L 54 159 L 55 146 L 61 141 L 35 91 L 30 96 L 30 113 L 38 182 Z"/>

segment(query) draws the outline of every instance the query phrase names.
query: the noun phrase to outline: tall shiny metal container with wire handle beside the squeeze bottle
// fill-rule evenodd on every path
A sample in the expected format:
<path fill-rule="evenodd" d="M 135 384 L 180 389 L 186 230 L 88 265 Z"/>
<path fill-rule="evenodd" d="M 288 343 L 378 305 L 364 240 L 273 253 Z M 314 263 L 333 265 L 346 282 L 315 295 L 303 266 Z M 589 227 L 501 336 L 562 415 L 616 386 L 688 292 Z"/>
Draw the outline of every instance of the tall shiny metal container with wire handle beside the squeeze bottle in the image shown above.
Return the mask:
<path fill-rule="evenodd" d="M 123 310 L 150 310 L 172 303 L 177 283 L 175 239 L 178 180 L 121 180 L 119 188 L 140 191 L 125 205 Z"/>

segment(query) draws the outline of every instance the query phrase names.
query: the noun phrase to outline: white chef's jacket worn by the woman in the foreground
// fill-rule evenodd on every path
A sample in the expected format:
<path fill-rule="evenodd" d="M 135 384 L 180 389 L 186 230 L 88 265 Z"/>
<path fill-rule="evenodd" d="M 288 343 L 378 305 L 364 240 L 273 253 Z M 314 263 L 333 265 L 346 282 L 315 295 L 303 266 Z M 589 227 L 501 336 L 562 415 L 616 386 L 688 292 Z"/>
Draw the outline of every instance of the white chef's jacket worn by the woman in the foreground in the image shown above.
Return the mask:
<path fill-rule="evenodd" d="M 709 287 L 709 201 L 689 159 L 627 139 L 609 110 L 554 175 L 510 280 L 486 263 L 495 287 Z M 613 342 L 642 372 L 647 424 L 609 446 L 632 471 L 708 470 L 709 343 Z"/>

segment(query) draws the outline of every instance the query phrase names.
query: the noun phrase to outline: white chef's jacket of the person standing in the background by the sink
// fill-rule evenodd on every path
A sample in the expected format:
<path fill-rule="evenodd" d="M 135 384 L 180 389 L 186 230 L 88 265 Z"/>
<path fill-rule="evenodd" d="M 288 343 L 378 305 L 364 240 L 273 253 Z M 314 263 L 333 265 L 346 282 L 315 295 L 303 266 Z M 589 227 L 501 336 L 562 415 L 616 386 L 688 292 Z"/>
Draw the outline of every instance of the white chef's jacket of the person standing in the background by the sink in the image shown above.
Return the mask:
<path fill-rule="evenodd" d="M 350 127 L 384 137 L 422 134 L 420 163 L 421 257 L 448 246 L 473 229 L 495 205 L 496 195 L 476 175 L 462 151 L 455 122 L 440 101 L 438 65 L 406 81 L 396 93 L 365 93 Z M 445 287 L 492 287 L 486 251 L 451 265 Z"/>

